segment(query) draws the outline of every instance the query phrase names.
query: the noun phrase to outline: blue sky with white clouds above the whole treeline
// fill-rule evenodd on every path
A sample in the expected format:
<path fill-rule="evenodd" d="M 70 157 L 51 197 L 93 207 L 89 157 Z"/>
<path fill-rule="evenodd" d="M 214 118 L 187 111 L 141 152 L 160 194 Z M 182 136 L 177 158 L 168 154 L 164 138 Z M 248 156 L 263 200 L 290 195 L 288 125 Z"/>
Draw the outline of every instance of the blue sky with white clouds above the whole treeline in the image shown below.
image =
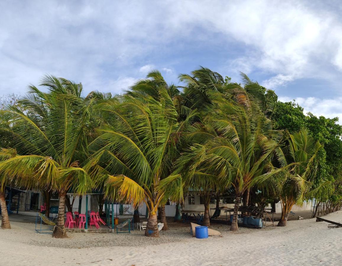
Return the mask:
<path fill-rule="evenodd" d="M 116 94 L 152 69 L 178 84 L 203 66 L 342 120 L 340 1 L 2 0 L 0 10 L 0 95 L 46 74 Z"/>

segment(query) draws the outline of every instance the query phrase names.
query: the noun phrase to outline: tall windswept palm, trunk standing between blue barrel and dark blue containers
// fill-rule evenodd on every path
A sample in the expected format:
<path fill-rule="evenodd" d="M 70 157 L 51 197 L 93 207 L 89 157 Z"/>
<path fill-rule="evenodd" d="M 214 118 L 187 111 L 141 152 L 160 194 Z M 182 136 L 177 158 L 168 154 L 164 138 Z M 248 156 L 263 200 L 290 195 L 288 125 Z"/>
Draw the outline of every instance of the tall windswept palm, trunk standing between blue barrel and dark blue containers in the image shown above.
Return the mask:
<path fill-rule="evenodd" d="M 255 177 L 263 174 L 274 152 L 280 152 L 281 132 L 274 131 L 271 115 L 275 94 L 241 74 L 243 86 L 225 81 L 221 75 L 200 67 L 192 75 L 181 75 L 187 84 L 184 98 L 191 108 L 201 111 L 189 136 L 192 143 L 210 147 L 211 162 L 221 172 L 230 172 L 235 189 L 235 206 L 231 230 L 238 229 L 237 213 L 242 195 Z M 204 114 L 202 113 L 204 112 Z M 203 123 L 203 121 L 210 121 Z M 211 126 L 208 127 L 208 124 Z M 206 147 L 206 144 L 204 144 Z M 210 165 L 208 165 L 210 169 Z M 226 183 L 229 183 L 229 179 Z"/>

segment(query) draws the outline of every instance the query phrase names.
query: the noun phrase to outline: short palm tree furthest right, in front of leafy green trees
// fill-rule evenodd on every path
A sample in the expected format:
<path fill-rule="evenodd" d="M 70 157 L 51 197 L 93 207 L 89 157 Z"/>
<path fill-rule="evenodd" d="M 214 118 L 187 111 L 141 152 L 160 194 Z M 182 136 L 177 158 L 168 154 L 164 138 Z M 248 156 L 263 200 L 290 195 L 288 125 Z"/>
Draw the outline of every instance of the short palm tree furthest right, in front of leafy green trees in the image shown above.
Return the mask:
<path fill-rule="evenodd" d="M 259 184 L 280 195 L 282 208 L 278 226 L 286 226 L 294 204 L 301 205 L 310 194 L 331 186 L 329 181 L 322 180 L 315 189 L 312 188 L 317 170 L 315 158 L 322 147 L 306 129 L 290 134 L 288 145 L 283 148 L 282 167 L 259 177 Z"/>

